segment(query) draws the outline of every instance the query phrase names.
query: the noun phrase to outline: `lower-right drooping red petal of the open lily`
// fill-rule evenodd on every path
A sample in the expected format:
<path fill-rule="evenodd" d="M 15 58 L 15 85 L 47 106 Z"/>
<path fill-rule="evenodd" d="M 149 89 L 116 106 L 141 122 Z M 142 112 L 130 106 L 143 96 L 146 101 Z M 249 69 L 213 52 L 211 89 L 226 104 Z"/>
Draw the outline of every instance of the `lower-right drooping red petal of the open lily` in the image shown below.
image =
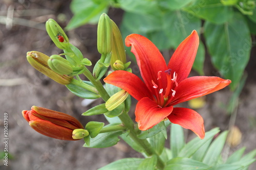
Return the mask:
<path fill-rule="evenodd" d="M 204 138 L 204 120 L 203 117 L 195 110 L 176 107 L 168 115 L 170 122 L 178 124 L 185 129 L 190 129 L 201 139 Z"/>

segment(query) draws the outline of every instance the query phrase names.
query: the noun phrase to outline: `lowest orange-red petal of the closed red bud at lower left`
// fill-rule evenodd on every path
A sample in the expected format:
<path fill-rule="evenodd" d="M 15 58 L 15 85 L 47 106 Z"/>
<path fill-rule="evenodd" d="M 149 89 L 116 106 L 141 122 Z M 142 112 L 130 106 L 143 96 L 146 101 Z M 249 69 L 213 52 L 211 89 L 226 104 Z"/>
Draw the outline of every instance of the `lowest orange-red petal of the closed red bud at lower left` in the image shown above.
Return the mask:
<path fill-rule="evenodd" d="M 52 138 L 61 140 L 77 140 L 72 138 L 72 129 L 55 125 L 47 120 L 35 119 L 30 121 L 29 125 L 38 133 Z"/>

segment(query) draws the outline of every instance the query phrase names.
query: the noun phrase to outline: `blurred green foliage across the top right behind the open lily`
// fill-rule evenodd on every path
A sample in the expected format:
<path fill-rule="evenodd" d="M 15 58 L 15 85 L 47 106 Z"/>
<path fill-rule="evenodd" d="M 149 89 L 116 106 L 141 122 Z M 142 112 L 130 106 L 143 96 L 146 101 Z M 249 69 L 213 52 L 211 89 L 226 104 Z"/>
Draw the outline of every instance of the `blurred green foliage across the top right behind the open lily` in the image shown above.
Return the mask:
<path fill-rule="evenodd" d="M 206 50 L 218 70 L 213 74 L 230 79 L 230 88 L 235 90 L 250 58 L 251 35 L 256 35 L 255 5 L 256 0 L 73 0 L 74 16 L 66 29 L 96 24 L 109 8 L 121 8 L 122 35 L 146 36 L 159 50 L 177 48 L 197 30 L 205 46 L 200 43 L 193 69 L 204 74 Z"/>

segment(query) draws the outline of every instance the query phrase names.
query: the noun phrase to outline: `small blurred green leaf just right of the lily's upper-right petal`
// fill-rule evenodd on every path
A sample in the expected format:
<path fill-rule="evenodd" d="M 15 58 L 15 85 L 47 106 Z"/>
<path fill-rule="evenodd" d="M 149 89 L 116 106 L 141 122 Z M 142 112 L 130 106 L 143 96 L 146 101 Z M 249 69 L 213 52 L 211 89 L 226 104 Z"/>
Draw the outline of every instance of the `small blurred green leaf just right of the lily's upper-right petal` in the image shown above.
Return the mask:
<path fill-rule="evenodd" d="M 202 41 L 200 41 L 197 51 L 197 56 L 193 64 L 193 69 L 196 70 L 200 76 L 204 75 L 204 59 L 205 59 L 205 47 Z"/>

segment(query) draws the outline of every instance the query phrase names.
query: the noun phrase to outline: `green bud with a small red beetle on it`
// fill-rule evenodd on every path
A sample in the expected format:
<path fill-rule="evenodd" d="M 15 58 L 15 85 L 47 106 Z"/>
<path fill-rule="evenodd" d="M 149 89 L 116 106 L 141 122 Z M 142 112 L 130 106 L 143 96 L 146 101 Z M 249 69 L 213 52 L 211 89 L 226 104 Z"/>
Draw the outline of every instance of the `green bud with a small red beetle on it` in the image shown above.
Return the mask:
<path fill-rule="evenodd" d="M 69 48 L 69 38 L 55 20 L 46 21 L 46 31 L 58 48 Z"/>

